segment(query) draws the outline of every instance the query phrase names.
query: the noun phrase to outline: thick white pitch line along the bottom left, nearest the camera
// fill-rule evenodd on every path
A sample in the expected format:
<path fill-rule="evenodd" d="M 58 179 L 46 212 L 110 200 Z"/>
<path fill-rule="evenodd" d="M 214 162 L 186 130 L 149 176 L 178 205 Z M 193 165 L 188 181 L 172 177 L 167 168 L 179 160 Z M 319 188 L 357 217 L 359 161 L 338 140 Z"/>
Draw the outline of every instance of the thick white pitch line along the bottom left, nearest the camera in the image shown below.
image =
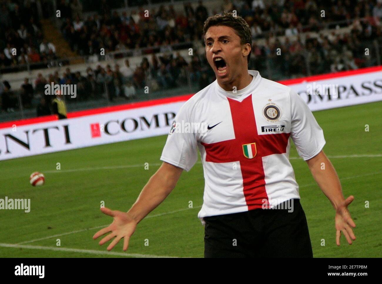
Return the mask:
<path fill-rule="evenodd" d="M 61 252 L 77 252 L 82 254 L 97 254 L 97 255 L 118 255 L 123 257 L 169 257 L 166 255 L 150 255 L 150 254 L 128 254 L 123 252 L 108 252 L 104 250 L 91 250 L 91 249 L 70 249 L 65 247 L 44 247 L 41 245 L 19 245 L 19 244 L 3 244 L 0 243 L 0 247 L 14 247 L 16 249 L 39 249 L 39 250 L 55 250 Z M 171 257 L 173 258 L 173 257 Z"/>

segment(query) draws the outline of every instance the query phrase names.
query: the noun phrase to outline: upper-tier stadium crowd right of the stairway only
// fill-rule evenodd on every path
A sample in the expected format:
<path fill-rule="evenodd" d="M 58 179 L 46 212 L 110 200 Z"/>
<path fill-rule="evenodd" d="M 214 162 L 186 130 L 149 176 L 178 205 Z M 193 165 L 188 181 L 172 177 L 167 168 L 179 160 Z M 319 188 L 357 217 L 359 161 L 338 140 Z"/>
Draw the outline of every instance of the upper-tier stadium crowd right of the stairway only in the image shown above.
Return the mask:
<path fill-rule="evenodd" d="M 209 13 L 202 1 L 193 8 L 184 3 L 184 11 L 176 12 L 173 5 L 166 8 L 138 10 L 119 13 L 111 10 L 106 0 L 101 1 L 99 10 L 84 17 L 81 3 L 73 0 L 68 4 L 61 0 L 62 33 L 71 48 L 81 55 L 98 54 L 100 48 L 106 52 L 172 45 L 200 40 L 203 23 L 217 11 L 236 10 L 252 29 L 254 38 L 272 35 L 297 35 L 306 31 L 319 31 L 325 24 L 340 22 L 348 26 L 353 19 L 371 18 L 375 25 L 382 17 L 381 0 L 225 0 L 222 7 Z M 324 14 L 322 13 L 324 11 Z"/>

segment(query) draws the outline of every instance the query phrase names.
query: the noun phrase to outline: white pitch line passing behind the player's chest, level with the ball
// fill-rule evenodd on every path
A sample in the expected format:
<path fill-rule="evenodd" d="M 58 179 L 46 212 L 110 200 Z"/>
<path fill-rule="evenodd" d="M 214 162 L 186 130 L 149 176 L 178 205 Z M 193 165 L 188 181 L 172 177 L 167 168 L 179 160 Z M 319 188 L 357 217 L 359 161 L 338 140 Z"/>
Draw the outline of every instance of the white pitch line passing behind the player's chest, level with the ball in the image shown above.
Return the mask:
<path fill-rule="evenodd" d="M 345 156 L 328 156 L 329 159 L 346 159 L 346 158 L 375 158 L 382 157 L 382 154 L 363 154 L 363 155 L 345 155 Z M 301 157 L 289 157 L 290 160 L 301 160 Z M 201 161 L 196 162 L 196 164 L 201 164 Z M 150 166 L 160 166 L 162 163 L 149 163 Z M 47 170 L 41 171 L 43 173 L 70 173 L 70 172 L 81 172 L 81 171 L 91 171 L 91 170 L 114 170 L 118 168 L 139 168 L 144 167 L 144 164 L 135 165 L 120 165 L 120 166 L 109 166 L 109 167 L 92 167 L 92 168 L 73 168 L 70 170 Z"/>

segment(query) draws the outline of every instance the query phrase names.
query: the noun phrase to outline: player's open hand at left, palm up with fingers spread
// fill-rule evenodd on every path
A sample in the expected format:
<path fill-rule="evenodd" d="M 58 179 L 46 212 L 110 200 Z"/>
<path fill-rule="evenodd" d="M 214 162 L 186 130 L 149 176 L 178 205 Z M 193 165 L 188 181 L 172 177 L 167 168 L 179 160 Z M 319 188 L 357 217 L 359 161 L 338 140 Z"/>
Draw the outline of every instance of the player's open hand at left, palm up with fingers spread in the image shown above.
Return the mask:
<path fill-rule="evenodd" d="M 97 233 L 94 234 L 93 239 L 97 239 L 106 233 L 111 232 L 102 240 L 100 240 L 99 245 L 103 245 L 105 242 L 110 241 L 113 237 L 113 241 L 107 247 L 107 250 L 112 250 L 113 247 L 123 239 L 123 250 L 126 251 L 129 245 L 130 236 L 134 233 L 135 228 L 137 226 L 136 221 L 131 218 L 128 213 L 121 212 L 118 210 L 110 210 L 106 207 L 101 208 L 102 213 L 113 217 L 114 221 L 107 226 L 106 228 L 100 229 Z"/>

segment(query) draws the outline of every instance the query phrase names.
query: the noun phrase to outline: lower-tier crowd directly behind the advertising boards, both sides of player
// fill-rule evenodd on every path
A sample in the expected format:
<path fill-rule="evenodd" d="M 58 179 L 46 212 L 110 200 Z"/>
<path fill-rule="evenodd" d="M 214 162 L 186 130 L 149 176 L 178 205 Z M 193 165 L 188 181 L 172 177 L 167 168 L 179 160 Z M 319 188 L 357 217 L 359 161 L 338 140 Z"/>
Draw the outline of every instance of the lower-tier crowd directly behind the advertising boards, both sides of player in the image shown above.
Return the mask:
<path fill-rule="evenodd" d="M 345 34 L 332 32 L 328 36 L 297 37 L 293 41 L 286 37 L 284 42 L 272 37 L 264 45 L 253 42 L 249 69 L 259 70 L 265 77 L 277 77 L 280 74 L 280 79 L 285 79 L 308 75 L 308 68 L 309 74 L 315 75 L 373 66 L 376 65 L 376 54 L 365 53 L 365 47 L 372 47 L 373 40 L 382 46 L 382 29 L 380 26 L 374 28 L 367 19 L 353 21 L 350 32 Z M 44 94 L 45 84 L 52 82 L 76 84 L 78 96 L 71 101 L 99 99 L 106 95 L 110 101 L 116 97 L 136 98 L 138 93 L 142 93 L 139 90 L 145 86 L 157 91 L 196 82 L 201 89 L 215 78 L 204 54 L 198 53 L 198 50 L 203 49 L 202 42 L 198 41 L 194 46 L 190 60 L 186 60 L 179 52 L 176 56 L 172 53 L 162 56 L 153 53 L 143 57 L 138 66 L 130 66 L 129 59 L 125 59 L 123 66 L 107 64 L 102 67 L 99 64 L 96 69 L 88 67 L 83 73 L 71 72 L 70 68 L 66 68 L 61 76 L 57 71 L 49 74 L 48 78 L 39 74 L 34 87 L 28 79 L 24 82 L 22 103 L 24 107 L 30 107 L 32 98 Z M 281 51 L 279 55 L 278 48 Z M 14 97 L 10 87 L 3 89 L 2 109 L 10 111 L 16 108 L 18 102 L 10 99 Z"/>

